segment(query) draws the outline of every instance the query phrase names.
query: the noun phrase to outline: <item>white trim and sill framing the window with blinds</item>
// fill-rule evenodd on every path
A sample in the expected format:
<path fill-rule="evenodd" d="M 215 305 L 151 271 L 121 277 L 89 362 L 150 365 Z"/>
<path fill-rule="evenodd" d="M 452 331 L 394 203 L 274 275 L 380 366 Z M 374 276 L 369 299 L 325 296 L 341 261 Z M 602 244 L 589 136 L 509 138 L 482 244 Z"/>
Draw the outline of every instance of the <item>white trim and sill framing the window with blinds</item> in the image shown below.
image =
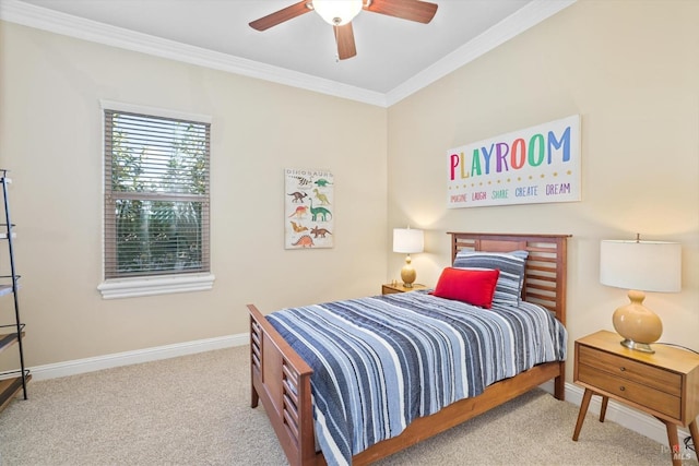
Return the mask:
<path fill-rule="evenodd" d="M 171 109 L 149 107 L 134 104 L 126 104 L 114 100 L 99 100 L 99 121 L 102 121 L 102 192 L 103 198 L 106 190 L 105 187 L 105 126 L 104 126 L 104 112 L 105 110 L 125 111 L 142 115 L 151 115 L 154 117 L 171 118 L 180 120 L 198 121 L 201 123 L 211 124 L 212 117 L 208 115 L 182 112 Z M 211 153 L 210 153 L 210 168 L 211 174 Z M 210 177 L 211 187 L 211 177 Z M 211 202 L 211 200 L 210 200 Z M 102 203 L 102 216 L 104 219 L 104 202 Z M 211 224 L 210 224 L 211 231 Z M 105 278 L 105 223 L 102 222 L 102 283 L 97 286 L 97 290 L 102 294 L 103 299 L 119 299 L 119 298 L 135 298 L 143 296 L 157 296 L 169 295 L 176 292 L 191 292 L 191 291 L 205 291 L 213 288 L 215 280 L 214 274 L 210 272 L 199 273 L 185 273 L 185 274 L 164 274 L 164 275 L 150 275 L 140 277 L 126 277 L 126 278 Z M 211 256 L 211 242 L 209 242 L 210 256 Z M 210 265 L 211 266 L 211 265 Z"/>

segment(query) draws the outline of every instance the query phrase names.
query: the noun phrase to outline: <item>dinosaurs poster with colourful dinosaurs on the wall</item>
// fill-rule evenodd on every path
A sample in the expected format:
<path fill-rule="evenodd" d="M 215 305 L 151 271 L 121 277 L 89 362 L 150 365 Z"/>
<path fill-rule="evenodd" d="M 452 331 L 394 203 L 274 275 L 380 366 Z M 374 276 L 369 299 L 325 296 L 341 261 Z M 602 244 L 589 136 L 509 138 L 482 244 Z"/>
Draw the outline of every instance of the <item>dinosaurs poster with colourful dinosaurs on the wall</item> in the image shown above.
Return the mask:
<path fill-rule="evenodd" d="M 284 177 L 284 248 L 332 248 L 335 234 L 332 174 L 286 168 Z"/>

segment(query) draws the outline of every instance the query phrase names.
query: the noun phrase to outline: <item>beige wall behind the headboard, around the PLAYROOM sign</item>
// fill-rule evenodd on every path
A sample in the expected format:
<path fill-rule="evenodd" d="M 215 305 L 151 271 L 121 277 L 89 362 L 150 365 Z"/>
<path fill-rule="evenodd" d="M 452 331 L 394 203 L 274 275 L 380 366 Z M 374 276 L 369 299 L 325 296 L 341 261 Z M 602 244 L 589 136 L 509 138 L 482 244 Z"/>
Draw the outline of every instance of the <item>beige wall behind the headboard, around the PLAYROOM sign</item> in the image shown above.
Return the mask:
<path fill-rule="evenodd" d="M 448 230 L 571 234 L 570 340 L 626 292 L 599 282 L 602 239 L 683 244 L 683 291 L 649 294 L 662 340 L 699 350 L 699 2 L 581 0 L 389 109 L 389 226 L 428 230 L 418 282 L 449 262 Z M 446 210 L 447 150 L 582 118 L 582 201 Z M 389 258 L 388 277 L 401 258 Z M 572 366 L 572 365 L 569 365 Z M 569 367 L 569 371 L 571 368 Z"/>

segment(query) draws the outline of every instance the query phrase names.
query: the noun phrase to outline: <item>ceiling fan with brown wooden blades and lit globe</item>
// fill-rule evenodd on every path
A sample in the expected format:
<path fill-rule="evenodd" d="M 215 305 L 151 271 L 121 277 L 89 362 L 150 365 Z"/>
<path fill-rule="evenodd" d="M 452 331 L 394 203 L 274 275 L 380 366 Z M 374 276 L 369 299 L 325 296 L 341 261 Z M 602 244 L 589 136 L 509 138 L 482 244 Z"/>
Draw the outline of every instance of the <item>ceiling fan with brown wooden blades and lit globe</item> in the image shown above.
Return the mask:
<path fill-rule="evenodd" d="M 437 4 L 420 0 L 301 0 L 251 22 L 250 27 L 265 31 L 309 11 L 316 11 L 333 26 L 337 58 L 345 60 L 357 55 L 352 20 L 362 10 L 427 24 L 435 16 Z"/>

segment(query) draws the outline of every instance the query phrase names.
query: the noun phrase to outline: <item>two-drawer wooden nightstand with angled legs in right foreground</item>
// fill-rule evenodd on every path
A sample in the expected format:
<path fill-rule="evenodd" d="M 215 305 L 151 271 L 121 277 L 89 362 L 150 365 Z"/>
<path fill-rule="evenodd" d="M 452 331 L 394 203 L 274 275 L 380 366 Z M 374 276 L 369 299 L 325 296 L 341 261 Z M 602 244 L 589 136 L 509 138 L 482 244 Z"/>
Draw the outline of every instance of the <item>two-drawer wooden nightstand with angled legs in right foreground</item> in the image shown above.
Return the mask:
<path fill-rule="evenodd" d="M 573 381 L 585 387 L 577 441 L 592 395 L 602 396 L 600 421 L 609 398 L 640 409 L 665 423 L 673 465 L 682 465 L 677 426 L 689 426 L 695 449 L 699 445 L 699 355 L 655 344 L 655 354 L 635 351 L 619 344 L 614 332 L 601 331 L 576 340 Z"/>

